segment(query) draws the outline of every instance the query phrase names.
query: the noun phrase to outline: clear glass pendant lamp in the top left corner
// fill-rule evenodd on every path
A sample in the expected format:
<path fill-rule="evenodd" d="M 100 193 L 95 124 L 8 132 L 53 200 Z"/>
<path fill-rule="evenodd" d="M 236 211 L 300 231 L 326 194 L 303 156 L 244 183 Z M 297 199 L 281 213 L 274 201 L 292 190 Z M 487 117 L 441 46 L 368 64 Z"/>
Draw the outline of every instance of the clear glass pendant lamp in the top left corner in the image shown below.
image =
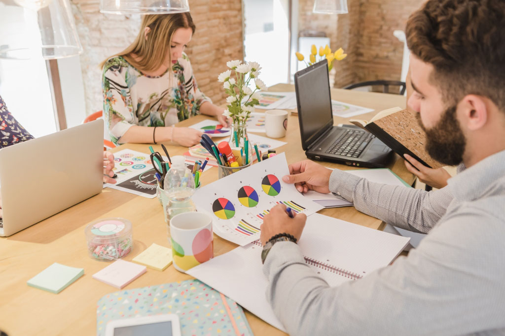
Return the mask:
<path fill-rule="evenodd" d="M 56 59 L 81 52 L 69 0 L 0 1 L 0 58 Z"/>

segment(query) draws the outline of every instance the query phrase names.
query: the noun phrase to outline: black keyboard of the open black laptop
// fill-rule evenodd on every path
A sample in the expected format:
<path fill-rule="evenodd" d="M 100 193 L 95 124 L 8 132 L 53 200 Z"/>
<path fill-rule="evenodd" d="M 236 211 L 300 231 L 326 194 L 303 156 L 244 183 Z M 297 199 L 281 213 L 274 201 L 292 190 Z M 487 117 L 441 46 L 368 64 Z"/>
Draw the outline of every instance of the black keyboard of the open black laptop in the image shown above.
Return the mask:
<path fill-rule="evenodd" d="M 364 130 L 346 129 L 325 153 L 357 158 L 374 138 Z"/>

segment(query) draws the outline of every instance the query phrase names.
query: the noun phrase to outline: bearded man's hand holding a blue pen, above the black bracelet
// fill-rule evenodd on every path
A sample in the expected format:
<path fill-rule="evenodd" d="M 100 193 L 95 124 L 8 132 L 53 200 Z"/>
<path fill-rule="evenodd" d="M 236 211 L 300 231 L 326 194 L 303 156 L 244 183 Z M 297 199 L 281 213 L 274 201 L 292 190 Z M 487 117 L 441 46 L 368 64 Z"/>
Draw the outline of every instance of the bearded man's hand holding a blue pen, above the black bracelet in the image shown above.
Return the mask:
<path fill-rule="evenodd" d="M 287 233 L 300 240 L 301 232 L 304 230 L 307 216 L 305 214 L 296 215 L 290 218 L 286 213 L 286 206 L 278 204 L 270 210 L 270 213 L 263 218 L 261 225 L 261 243 L 265 245 L 267 241 L 278 233 Z"/>

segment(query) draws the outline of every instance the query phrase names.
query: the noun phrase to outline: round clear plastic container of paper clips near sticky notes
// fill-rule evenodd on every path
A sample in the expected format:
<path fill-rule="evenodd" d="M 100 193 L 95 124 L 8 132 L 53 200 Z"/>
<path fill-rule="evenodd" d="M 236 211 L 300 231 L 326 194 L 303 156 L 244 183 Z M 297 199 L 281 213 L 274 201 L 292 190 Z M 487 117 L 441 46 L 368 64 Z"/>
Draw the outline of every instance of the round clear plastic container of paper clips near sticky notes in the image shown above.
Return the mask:
<path fill-rule="evenodd" d="M 117 260 L 133 248 L 131 222 L 124 218 L 93 221 L 86 226 L 84 233 L 88 254 L 96 260 Z"/>

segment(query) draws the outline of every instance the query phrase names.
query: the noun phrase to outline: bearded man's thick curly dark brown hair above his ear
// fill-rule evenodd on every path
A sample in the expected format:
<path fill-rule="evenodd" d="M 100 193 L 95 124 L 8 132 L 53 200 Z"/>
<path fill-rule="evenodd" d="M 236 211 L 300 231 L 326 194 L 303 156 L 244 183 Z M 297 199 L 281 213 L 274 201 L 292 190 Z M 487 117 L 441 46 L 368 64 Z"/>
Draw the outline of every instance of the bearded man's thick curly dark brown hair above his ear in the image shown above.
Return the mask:
<path fill-rule="evenodd" d="M 447 105 L 468 94 L 505 112 L 505 1 L 429 0 L 409 18 L 411 52 L 434 71 Z"/>

